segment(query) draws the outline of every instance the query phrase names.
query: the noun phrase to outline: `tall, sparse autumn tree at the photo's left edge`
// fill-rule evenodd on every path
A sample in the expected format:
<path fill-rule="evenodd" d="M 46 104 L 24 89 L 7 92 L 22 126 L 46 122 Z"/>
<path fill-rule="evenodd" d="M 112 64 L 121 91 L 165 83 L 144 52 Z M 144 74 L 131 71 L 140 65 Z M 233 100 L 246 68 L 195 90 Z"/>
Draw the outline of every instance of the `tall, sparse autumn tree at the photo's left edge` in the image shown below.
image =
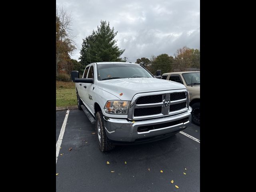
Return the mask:
<path fill-rule="evenodd" d="M 58 63 L 69 57 L 76 49 L 75 36 L 72 33 L 72 14 L 62 8 L 56 7 L 56 76 L 58 76 Z"/>

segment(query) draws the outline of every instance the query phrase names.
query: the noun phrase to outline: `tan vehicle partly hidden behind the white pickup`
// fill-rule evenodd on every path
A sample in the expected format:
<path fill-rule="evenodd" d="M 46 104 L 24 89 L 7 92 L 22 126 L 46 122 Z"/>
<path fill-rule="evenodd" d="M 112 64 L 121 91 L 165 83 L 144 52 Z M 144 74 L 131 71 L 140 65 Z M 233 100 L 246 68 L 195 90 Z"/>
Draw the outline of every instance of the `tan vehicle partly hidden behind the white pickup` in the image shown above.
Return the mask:
<path fill-rule="evenodd" d="M 200 126 L 200 71 L 164 73 L 162 79 L 186 86 L 190 97 L 189 105 L 192 107 L 192 122 Z"/>

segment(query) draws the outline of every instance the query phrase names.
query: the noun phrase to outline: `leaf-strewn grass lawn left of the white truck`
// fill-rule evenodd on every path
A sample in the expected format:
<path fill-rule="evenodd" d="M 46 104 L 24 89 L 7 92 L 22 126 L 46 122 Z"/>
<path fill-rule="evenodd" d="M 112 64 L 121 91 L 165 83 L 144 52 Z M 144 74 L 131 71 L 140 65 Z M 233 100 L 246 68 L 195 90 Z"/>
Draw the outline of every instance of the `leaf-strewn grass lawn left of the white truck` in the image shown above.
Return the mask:
<path fill-rule="evenodd" d="M 56 81 L 56 107 L 74 106 L 76 90 L 73 82 Z"/>

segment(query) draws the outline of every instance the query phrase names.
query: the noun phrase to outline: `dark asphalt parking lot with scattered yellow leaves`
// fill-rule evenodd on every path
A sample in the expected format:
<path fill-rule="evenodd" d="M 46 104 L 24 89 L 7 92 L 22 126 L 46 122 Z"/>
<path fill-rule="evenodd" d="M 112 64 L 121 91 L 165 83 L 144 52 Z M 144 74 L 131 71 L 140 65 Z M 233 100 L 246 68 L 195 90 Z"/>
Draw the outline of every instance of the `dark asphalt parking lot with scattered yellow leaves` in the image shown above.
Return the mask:
<path fill-rule="evenodd" d="M 66 113 L 56 111 L 56 143 Z M 186 128 L 183 132 L 188 136 L 178 133 L 148 144 L 116 146 L 105 153 L 98 149 L 94 126 L 83 111 L 69 111 L 56 161 L 57 192 L 200 191 L 199 126 Z"/>

